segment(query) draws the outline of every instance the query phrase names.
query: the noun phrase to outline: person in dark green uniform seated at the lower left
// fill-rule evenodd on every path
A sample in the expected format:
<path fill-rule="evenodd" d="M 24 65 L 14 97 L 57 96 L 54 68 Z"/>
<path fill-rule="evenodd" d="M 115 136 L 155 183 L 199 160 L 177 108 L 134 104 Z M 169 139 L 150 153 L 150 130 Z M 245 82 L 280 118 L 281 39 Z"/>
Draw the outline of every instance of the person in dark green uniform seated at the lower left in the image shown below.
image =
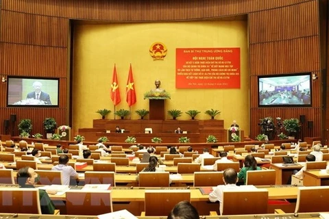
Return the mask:
<path fill-rule="evenodd" d="M 38 183 L 39 179 L 39 175 L 29 166 L 25 166 L 17 172 L 17 183 L 20 188 L 34 188 L 34 185 Z M 45 190 L 39 190 L 39 199 L 42 214 L 53 214 L 55 205 L 53 205 Z"/>

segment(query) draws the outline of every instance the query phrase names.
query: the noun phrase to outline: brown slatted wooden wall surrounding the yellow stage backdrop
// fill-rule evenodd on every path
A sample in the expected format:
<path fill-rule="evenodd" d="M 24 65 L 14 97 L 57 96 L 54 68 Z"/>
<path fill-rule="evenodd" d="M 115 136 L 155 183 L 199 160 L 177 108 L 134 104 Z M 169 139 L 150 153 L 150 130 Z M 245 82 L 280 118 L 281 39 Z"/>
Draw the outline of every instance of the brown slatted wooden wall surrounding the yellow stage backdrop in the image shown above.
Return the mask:
<path fill-rule="evenodd" d="M 251 138 L 259 133 L 259 118 L 306 115 L 314 122 L 305 136 L 319 136 L 321 130 L 321 69 L 319 68 L 318 0 L 2 0 L 0 33 L 0 75 L 60 77 L 60 108 L 5 108 L 5 83 L 0 83 L 0 122 L 11 112 L 19 118 L 31 116 L 42 122 L 53 116 L 64 123 L 69 88 L 67 53 L 69 19 L 108 22 L 200 21 L 248 14 L 250 57 Z M 28 46 L 33 45 L 33 46 Z M 56 63 L 58 66 L 56 66 Z M 34 67 L 35 66 L 35 67 Z M 35 69 L 34 69 L 35 68 Z M 24 73 L 23 73 L 24 72 Z M 313 107 L 258 108 L 257 75 L 313 72 Z M 2 98 L 4 97 L 4 98 Z M 69 107 L 69 106 L 67 106 Z M 18 119 L 19 119 L 18 118 Z M 62 125 L 62 124 L 60 124 Z M 42 129 L 36 125 L 36 129 Z M 34 130 L 36 130 L 34 129 Z M 3 127 L 0 126 L 0 133 Z M 41 132 L 40 130 L 39 132 Z"/>

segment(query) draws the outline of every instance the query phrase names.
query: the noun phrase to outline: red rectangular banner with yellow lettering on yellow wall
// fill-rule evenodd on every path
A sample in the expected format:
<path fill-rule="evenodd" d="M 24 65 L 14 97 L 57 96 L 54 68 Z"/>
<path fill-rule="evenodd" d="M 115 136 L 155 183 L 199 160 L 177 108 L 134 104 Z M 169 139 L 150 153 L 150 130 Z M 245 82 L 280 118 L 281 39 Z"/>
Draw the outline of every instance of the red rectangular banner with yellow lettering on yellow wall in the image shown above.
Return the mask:
<path fill-rule="evenodd" d="M 176 49 L 176 88 L 240 88 L 240 48 Z"/>

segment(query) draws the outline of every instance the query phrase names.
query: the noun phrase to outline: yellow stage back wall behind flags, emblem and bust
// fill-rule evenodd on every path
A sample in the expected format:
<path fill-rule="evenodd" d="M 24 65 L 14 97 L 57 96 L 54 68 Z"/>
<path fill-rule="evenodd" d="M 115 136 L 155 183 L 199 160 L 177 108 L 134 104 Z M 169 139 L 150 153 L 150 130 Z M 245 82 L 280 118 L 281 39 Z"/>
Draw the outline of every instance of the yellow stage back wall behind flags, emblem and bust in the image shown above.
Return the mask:
<path fill-rule="evenodd" d="M 149 47 L 154 42 L 167 46 L 167 57 L 154 61 Z M 241 48 L 241 89 L 176 89 L 176 48 Z M 121 103 L 117 110 L 129 110 L 125 85 L 130 63 L 137 102 L 132 106 L 132 119 L 138 109 L 148 110 L 143 94 L 160 79 L 161 88 L 171 94 L 166 110 L 199 110 L 197 119 L 208 119 L 206 110 L 221 111 L 217 119 L 229 127 L 236 120 L 245 136 L 249 135 L 249 67 L 247 57 L 247 21 L 197 21 L 182 23 L 128 23 L 76 25 L 73 59 L 73 128 L 93 127 L 99 109 L 112 110 L 110 99 L 113 66 L 117 64 Z M 167 119 L 171 119 L 167 115 Z M 190 119 L 184 114 L 179 120 Z"/>

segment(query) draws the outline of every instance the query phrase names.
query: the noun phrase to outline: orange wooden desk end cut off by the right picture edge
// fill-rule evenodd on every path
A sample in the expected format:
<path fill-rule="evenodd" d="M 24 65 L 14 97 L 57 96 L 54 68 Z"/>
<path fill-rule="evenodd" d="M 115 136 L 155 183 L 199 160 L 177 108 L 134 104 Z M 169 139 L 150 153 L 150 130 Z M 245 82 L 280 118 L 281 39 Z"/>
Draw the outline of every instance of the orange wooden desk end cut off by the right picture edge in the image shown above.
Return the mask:
<path fill-rule="evenodd" d="M 305 170 L 303 173 L 304 186 L 329 185 L 329 174 L 326 170 Z"/>

